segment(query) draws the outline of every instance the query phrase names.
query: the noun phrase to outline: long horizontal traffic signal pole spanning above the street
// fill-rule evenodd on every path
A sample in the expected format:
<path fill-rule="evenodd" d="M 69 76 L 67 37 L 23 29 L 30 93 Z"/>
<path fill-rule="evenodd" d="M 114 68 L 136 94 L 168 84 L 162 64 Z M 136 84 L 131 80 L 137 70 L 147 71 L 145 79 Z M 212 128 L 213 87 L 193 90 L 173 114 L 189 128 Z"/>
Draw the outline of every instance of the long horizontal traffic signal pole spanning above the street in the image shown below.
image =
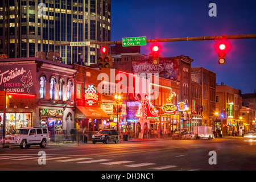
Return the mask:
<path fill-rule="evenodd" d="M 196 41 L 196 40 L 228 40 L 228 39 L 256 39 L 256 34 L 243 35 L 218 35 L 218 36 L 196 36 L 187 38 L 167 38 L 167 39 L 147 39 L 148 43 L 155 42 L 180 42 L 180 41 Z M 122 44 L 122 41 L 110 42 L 90 42 L 90 44 Z M 70 46 L 70 44 L 56 44 L 56 46 Z"/>

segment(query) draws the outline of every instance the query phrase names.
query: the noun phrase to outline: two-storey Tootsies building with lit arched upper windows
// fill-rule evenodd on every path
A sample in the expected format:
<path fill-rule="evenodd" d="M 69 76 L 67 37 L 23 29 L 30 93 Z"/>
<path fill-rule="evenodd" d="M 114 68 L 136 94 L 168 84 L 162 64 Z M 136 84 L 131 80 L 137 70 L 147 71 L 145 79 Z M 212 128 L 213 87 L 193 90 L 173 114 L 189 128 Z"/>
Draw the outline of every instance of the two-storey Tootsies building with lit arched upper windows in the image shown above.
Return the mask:
<path fill-rule="evenodd" d="M 61 139 L 74 127 L 74 75 L 71 65 L 35 57 L 0 60 L 1 71 L 15 76 L 1 84 L 7 93 L 6 132 L 45 126 L 51 140 Z"/>

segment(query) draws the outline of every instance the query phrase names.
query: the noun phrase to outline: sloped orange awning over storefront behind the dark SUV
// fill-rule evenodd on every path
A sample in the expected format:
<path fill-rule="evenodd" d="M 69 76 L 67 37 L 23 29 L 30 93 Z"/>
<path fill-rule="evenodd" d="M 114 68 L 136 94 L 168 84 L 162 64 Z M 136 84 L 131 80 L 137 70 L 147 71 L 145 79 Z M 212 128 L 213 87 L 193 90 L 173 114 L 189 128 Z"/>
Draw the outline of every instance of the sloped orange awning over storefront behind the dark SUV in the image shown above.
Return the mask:
<path fill-rule="evenodd" d="M 109 119 L 100 107 L 76 106 L 75 119 Z"/>

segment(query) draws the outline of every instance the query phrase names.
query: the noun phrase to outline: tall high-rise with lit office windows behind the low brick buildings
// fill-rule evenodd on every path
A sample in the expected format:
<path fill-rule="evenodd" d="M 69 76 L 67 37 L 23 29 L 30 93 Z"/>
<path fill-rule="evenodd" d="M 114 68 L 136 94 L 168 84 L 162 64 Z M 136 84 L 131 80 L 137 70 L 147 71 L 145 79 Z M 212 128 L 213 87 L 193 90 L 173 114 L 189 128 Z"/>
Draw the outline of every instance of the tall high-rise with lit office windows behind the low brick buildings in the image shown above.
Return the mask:
<path fill-rule="evenodd" d="M 35 57 L 60 52 L 63 63 L 97 63 L 100 46 L 55 46 L 69 42 L 108 42 L 111 0 L 0 1 L 0 53 Z M 83 55 L 83 56 L 81 56 Z"/>

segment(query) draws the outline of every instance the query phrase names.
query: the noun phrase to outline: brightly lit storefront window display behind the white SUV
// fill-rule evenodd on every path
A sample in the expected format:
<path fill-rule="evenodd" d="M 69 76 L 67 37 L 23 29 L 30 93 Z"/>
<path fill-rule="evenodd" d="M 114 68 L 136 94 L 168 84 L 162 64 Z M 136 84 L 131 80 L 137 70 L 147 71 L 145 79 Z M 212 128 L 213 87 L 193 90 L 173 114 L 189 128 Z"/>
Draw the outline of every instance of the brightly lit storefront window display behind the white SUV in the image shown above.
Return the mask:
<path fill-rule="evenodd" d="M 3 118 L 3 113 L 0 115 Z M 6 135 L 12 134 L 15 129 L 32 126 L 31 116 L 32 113 L 6 113 Z M 3 124 L 3 119 L 1 124 Z"/>

